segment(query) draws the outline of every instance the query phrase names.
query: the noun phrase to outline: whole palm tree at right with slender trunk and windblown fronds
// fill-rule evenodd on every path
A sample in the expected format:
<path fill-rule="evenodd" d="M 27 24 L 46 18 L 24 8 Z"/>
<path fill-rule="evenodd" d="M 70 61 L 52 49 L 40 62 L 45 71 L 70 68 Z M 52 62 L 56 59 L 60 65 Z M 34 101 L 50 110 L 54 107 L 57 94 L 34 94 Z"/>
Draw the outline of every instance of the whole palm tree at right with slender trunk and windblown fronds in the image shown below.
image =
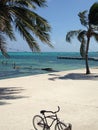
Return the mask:
<path fill-rule="evenodd" d="M 89 43 L 90 43 L 91 37 L 94 37 L 95 40 L 98 42 L 97 25 L 95 26 L 95 24 L 92 24 L 91 20 L 90 20 L 92 18 L 92 17 L 90 18 L 91 15 L 93 17 L 95 16 L 95 14 L 93 13 L 95 8 L 92 9 L 92 14 L 91 14 L 91 8 L 90 8 L 89 14 L 87 14 L 86 10 L 83 12 L 80 12 L 78 14 L 78 16 L 80 18 L 80 22 L 84 27 L 86 27 L 86 30 L 75 30 L 75 31 L 70 31 L 66 34 L 66 41 L 67 42 L 71 42 L 71 38 L 73 36 L 77 36 L 77 39 L 81 43 L 80 54 L 85 59 L 86 74 L 90 74 L 90 69 L 89 69 L 89 64 L 88 64 L 88 50 L 89 50 Z M 97 6 L 97 13 L 98 13 L 98 6 Z M 93 19 L 93 21 L 95 22 L 95 19 Z M 97 20 L 97 23 L 98 23 L 98 20 Z"/>

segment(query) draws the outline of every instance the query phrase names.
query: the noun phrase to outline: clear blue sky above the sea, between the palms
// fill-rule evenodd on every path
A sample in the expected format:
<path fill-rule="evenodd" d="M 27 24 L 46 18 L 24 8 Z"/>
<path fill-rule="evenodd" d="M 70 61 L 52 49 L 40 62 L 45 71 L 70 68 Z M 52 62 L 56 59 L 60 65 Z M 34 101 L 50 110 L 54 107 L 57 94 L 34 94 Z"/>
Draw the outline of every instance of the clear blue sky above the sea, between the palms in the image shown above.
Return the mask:
<path fill-rule="evenodd" d="M 52 27 L 51 42 L 54 48 L 39 42 L 42 52 L 79 52 L 80 43 L 73 39 L 72 43 L 65 41 L 66 33 L 70 30 L 83 29 L 80 24 L 78 13 L 89 10 L 95 0 L 47 0 L 48 7 L 39 8 L 36 12 L 44 17 Z M 22 40 L 19 34 L 17 42 L 8 41 L 9 51 L 30 51 L 27 43 Z M 98 51 L 98 43 L 93 39 L 90 44 L 90 51 Z"/>

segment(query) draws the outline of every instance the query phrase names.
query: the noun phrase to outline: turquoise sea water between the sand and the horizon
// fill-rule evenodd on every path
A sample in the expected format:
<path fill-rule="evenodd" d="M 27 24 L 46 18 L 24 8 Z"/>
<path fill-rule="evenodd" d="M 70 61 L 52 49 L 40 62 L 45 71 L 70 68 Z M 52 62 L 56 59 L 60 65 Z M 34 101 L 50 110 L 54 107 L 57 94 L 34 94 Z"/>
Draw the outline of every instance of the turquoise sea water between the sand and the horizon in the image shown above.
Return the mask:
<path fill-rule="evenodd" d="M 65 71 L 85 68 L 84 60 L 58 59 L 58 56 L 81 57 L 78 52 L 10 52 L 9 59 L 0 53 L 0 79 L 49 73 L 42 70 L 52 68 L 54 71 Z M 98 52 L 89 53 L 97 57 Z M 98 61 L 89 61 L 90 67 L 98 66 Z"/>

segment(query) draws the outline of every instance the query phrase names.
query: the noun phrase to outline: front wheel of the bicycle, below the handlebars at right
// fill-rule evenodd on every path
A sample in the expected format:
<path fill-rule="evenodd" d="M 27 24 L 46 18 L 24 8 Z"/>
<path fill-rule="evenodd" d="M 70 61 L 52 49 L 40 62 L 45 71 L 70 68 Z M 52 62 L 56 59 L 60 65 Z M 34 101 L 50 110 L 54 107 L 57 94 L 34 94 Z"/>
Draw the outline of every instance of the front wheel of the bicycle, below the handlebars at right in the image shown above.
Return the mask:
<path fill-rule="evenodd" d="M 71 130 L 71 124 L 64 124 L 59 122 L 55 125 L 55 130 Z"/>

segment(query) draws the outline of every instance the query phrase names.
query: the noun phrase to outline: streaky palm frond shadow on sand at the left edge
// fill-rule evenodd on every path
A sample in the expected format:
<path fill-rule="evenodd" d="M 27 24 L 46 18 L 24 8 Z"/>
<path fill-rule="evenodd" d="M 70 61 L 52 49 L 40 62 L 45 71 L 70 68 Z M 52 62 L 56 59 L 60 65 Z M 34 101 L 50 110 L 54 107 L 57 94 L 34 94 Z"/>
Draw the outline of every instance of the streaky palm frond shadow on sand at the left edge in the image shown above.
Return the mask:
<path fill-rule="evenodd" d="M 7 100 L 15 100 L 15 99 L 24 98 L 24 96 L 20 95 L 20 93 L 23 90 L 24 89 L 20 87 L 9 87 L 9 88 L 1 87 L 0 88 L 0 105 L 9 104 L 7 103 Z"/>

